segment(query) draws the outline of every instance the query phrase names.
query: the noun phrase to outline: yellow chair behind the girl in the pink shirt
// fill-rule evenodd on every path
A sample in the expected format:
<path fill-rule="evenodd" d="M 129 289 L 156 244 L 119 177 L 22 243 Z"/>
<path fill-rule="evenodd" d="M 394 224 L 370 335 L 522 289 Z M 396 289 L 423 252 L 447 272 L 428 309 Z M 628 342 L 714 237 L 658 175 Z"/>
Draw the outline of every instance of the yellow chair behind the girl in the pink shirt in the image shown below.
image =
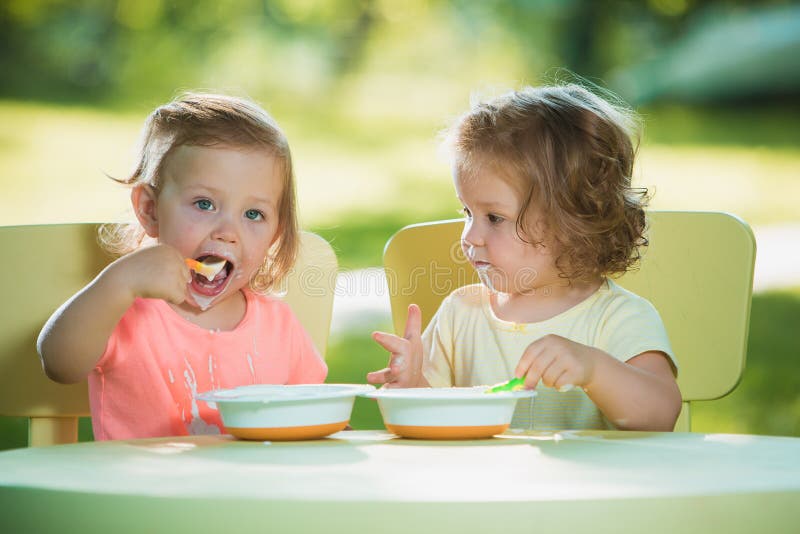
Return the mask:
<path fill-rule="evenodd" d="M 50 314 L 113 259 L 96 236 L 97 225 L 89 223 L 0 227 L 8 261 L 0 306 L 0 416 L 30 418 L 30 446 L 77 441 L 78 417 L 89 415 L 86 383 L 49 380 L 36 337 Z M 328 242 L 303 232 L 298 261 L 281 288 L 322 355 L 337 268 Z"/>

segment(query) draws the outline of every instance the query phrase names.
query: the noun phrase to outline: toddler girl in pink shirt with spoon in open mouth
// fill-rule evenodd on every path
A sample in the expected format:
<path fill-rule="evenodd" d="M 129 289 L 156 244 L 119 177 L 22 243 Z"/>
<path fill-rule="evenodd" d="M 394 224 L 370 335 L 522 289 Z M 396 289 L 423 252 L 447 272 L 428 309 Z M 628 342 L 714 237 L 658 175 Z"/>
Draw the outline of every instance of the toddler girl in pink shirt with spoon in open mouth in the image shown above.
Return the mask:
<path fill-rule="evenodd" d="M 51 379 L 88 376 L 96 439 L 219 433 L 195 393 L 325 379 L 288 304 L 265 294 L 299 239 L 291 154 L 272 117 L 246 99 L 185 94 L 148 117 L 121 182 L 139 224 L 105 226 L 101 241 L 124 255 L 38 340 Z M 191 260 L 224 266 L 206 277 Z"/>

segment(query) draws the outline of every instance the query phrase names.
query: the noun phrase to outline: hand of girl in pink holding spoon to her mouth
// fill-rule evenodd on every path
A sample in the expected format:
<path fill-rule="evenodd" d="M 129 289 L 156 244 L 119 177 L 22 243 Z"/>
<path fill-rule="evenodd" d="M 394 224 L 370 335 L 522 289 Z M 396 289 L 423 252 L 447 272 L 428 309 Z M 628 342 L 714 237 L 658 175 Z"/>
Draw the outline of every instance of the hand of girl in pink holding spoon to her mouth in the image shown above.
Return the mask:
<path fill-rule="evenodd" d="M 109 275 L 132 297 L 158 298 L 173 304 L 186 300 L 192 275 L 183 256 L 169 245 L 155 245 L 115 261 Z"/>

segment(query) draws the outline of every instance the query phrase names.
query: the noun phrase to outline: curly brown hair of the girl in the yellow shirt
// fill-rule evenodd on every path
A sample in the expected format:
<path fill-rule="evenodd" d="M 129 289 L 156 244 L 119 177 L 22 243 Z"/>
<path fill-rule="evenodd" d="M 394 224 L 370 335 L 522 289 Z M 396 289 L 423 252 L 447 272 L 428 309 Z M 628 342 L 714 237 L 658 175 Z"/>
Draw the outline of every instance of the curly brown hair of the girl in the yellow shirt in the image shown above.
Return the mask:
<path fill-rule="evenodd" d="M 575 84 L 525 87 L 473 106 L 450 128 L 455 165 L 488 166 L 522 198 L 517 233 L 569 280 L 621 274 L 639 260 L 647 189 L 631 187 L 634 113 Z M 538 218 L 538 219 L 537 219 Z"/>

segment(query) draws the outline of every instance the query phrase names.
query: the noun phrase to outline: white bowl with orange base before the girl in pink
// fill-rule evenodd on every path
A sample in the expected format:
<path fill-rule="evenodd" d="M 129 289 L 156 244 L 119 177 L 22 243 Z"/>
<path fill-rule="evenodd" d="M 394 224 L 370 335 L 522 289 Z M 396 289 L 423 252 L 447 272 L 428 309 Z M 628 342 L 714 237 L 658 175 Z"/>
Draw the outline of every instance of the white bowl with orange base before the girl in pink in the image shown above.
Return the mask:
<path fill-rule="evenodd" d="M 375 388 L 365 384 L 252 385 L 201 393 L 216 407 L 225 431 L 240 439 L 318 439 L 347 426 L 353 401 Z"/>

